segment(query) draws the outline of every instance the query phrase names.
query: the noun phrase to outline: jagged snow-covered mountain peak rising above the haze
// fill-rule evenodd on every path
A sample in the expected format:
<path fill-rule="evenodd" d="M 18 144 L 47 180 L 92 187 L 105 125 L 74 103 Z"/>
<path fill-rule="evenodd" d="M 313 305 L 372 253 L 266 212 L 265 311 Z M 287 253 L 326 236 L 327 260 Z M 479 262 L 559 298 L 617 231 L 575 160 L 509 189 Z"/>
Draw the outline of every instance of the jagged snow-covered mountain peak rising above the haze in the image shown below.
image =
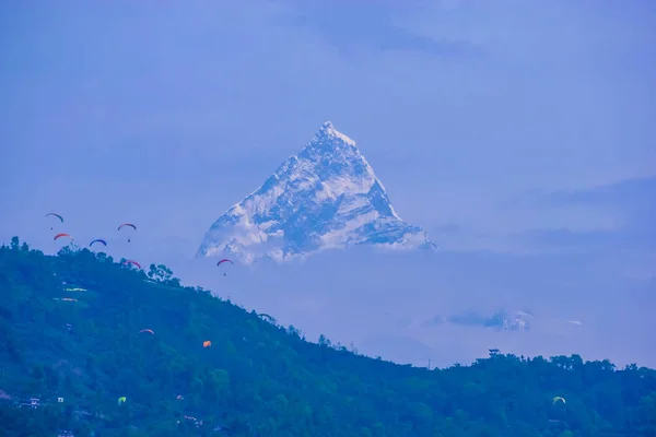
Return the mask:
<path fill-rule="evenodd" d="M 301 153 L 212 224 L 197 257 L 284 261 L 356 245 L 435 248 L 396 213 L 355 141 L 326 121 Z"/>

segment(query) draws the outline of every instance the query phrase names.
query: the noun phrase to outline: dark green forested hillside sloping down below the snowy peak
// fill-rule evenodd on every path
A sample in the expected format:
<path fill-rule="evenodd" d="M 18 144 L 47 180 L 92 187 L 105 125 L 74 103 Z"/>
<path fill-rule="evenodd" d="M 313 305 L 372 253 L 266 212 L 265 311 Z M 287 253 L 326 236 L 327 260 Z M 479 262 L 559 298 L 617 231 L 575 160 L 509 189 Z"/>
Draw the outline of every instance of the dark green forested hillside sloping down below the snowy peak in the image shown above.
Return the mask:
<path fill-rule="evenodd" d="M 647 368 L 502 354 L 395 365 L 307 342 L 164 265 L 49 257 L 17 238 L 0 248 L 0 292 L 5 436 L 656 436 Z M 30 398 L 38 408 L 20 408 Z"/>

